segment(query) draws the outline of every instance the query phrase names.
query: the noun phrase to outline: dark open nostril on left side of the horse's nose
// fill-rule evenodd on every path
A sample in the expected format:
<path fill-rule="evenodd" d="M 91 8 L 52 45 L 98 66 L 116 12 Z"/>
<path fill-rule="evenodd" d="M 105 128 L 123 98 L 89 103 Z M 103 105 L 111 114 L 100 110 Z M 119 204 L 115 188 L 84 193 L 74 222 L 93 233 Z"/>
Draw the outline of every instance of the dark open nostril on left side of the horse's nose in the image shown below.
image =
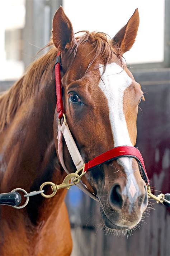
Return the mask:
<path fill-rule="evenodd" d="M 120 185 L 115 184 L 110 190 L 109 203 L 112 208 L 122 208 L 123 199 Z"/>

